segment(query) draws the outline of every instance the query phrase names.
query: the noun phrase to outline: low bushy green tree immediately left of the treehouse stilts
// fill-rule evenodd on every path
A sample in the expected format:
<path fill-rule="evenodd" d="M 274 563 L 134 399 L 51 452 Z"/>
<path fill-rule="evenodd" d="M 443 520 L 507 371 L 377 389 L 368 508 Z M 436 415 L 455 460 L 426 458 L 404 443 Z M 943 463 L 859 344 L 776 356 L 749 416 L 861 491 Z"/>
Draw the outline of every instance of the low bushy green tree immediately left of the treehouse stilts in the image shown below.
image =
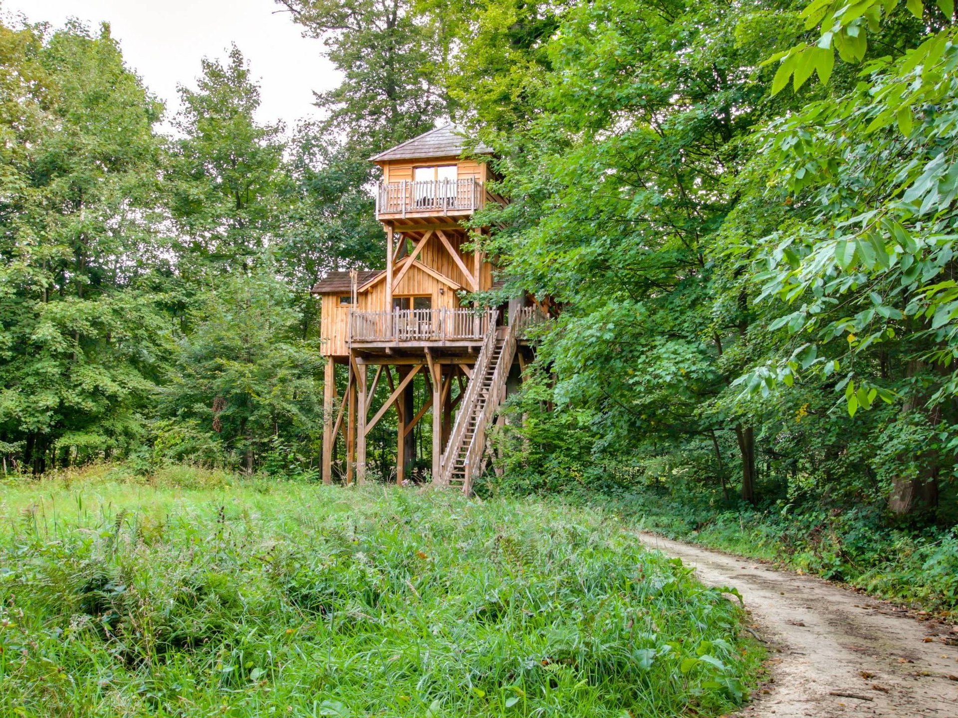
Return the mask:
<path fill-rule="evenodd" d="M 159 460 L 239 465 L 251 472 L 273 443 L 308 461 L 321 424 L 318 350 L 265 256 L 248 275 L 211 278 L 160 392 Z"/>

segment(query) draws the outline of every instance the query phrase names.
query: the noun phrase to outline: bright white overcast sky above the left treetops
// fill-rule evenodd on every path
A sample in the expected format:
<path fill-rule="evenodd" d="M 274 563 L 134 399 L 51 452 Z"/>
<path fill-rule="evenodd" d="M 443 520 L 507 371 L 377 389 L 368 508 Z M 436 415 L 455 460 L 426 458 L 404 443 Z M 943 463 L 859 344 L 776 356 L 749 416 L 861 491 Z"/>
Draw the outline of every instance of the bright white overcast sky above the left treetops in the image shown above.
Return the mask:
<path fill-rule="evenodd" d="M 176 84 L 194 86 L 200 58 L 224 57 L 231 42 L 261 80 L 261 122 L 283 120 L 291 128 L 314 117 L 312 91 L 339 81 L 320 56 L 321 42 L 303 37 L 273 0 L 0 0 L 0 8 L 55 26 L 68 17 L 94 29 L 109 22 L 126 63 L 167 103 L 168 116 L 179 104 Z"/>

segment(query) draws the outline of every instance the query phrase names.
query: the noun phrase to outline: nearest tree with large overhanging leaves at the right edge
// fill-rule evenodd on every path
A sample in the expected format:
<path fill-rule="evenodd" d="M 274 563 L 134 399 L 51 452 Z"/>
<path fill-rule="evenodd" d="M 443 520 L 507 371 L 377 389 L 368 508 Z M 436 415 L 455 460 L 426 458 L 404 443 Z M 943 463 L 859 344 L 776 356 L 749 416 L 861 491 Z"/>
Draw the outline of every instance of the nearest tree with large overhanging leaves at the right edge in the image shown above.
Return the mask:
<path fill-rule="evenodd" d="M 829 82 L 835 51 L 869 61 L 866 79 L 770 123 L 758 139 L 767 159 L 754 163 L 750 204 L 777 206 L 779 219 L 739 249 L 754 260 L 749 279 L 770 322 L 739 383 L 743 401 L 817 383 L 833 395 L 833 412 L 852 419 L 879 398 L 894 407 L 881 438 L 873 435 L 881 449 L 866 460 L 894 512 L 934 514 L 958 445 L 958 55 L 950 3 L 907 8 L 812 3 L 807 26 L 821 22 L 820 35 L 774 58 L 773 91 L 788 79 L 797 89 L 812 72 Z M 880 42 L 874 57 L 869 33 Z"/>

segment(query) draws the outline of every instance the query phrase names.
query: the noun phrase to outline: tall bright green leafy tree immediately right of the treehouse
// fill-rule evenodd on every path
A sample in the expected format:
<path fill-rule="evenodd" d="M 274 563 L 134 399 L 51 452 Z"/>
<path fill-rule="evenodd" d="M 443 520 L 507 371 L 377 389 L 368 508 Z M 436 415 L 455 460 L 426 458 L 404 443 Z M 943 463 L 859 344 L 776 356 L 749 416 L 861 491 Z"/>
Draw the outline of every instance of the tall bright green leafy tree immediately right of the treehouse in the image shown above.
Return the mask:
<path fill-rule="evenodd" d="M 550 68 L 525 83 L 536 112 L 507 112 L 507 131 L 489 134 L 513 199 L 494 217 L 511 224 L 494 249 L 517 287 L 565 306 L 540 351 L 558 405 L 591 410 L 598 450 L 732 433 L 749 501 L 754 430 L 712 407 L 738 373 L 750 313 L 743 300 L 719 302 L 710 252 L 738 200 L 741 141 L 775 107 L 750 76 L 798 32 L 787 9 L 568 8 L 529 51 Z M 462 55 L 484 52 L 467 44 Z"/>

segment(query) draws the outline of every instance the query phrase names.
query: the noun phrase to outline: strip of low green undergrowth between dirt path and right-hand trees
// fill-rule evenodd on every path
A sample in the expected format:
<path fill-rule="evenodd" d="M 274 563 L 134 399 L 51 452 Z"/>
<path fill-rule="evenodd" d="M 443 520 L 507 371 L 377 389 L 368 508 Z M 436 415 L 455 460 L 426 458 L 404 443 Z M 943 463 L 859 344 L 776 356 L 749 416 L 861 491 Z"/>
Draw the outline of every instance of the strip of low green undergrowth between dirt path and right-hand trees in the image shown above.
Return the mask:
<path fill-rule="evenodd" d="M 597 500 L 669 538 L 778 561 L 872 595 L 958 616 L 956 527 L 890 527 L 870 506 L 728 507 L 702 497 L 679 500 L 656 489 L 590 498 Z"/>

